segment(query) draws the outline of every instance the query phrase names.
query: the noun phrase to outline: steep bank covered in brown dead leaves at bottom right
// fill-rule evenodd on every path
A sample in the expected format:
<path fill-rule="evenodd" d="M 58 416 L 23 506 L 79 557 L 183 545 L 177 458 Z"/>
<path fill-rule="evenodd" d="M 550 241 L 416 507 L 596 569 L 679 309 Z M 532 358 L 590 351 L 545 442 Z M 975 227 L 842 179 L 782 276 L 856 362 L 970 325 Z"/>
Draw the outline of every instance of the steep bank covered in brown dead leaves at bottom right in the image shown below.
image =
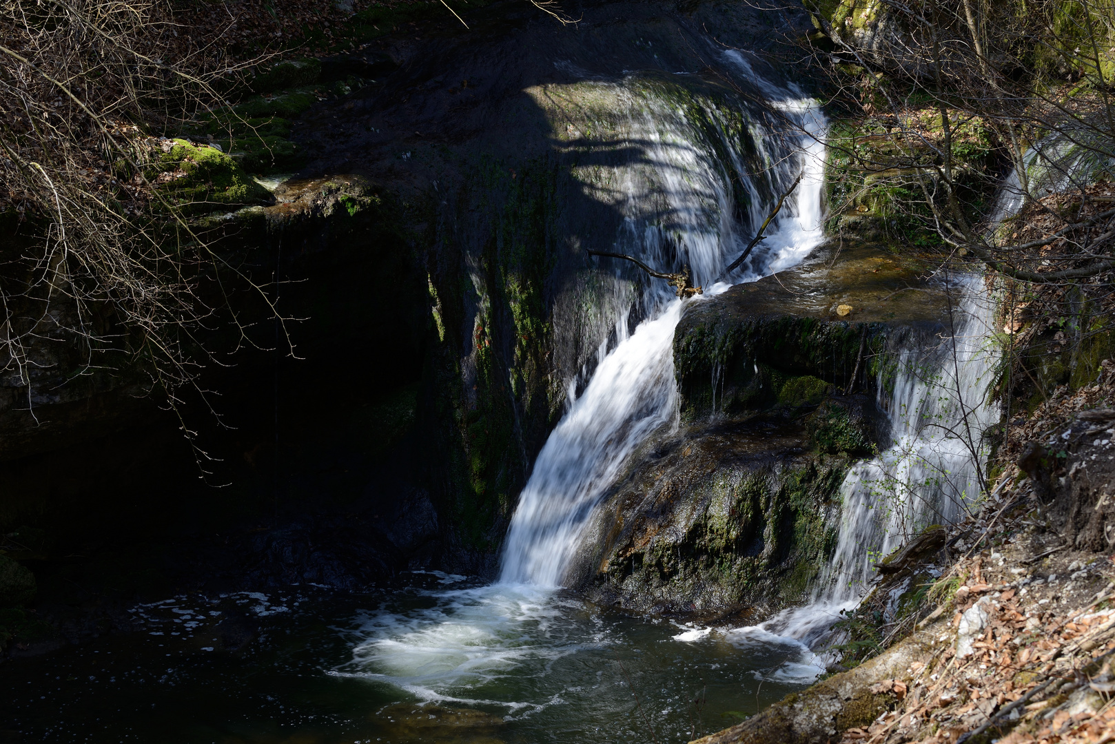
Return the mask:
<path fill-rule="evenodd" d="M 1105 553 L 1072 539 L 1074 519 L 1106 519 L 1102 500 L 1092 495 L 1111 483 L 1103 464 L 1107 445 L 1092 441 L 1097 433 L 1106 436 L 1111 413 L 1102 410 L 1065 422 L 1075 433 L 1066 465 L 1079 471 L 1083 463 L 1093 464 L 1086 479 L 1073 483 L 1061 476 L 1048 502 L 1039 480 L 1011 471 L 998 484 L 998 499 L 958 525 L 971 548 L 956 543 L 957 559 L 923 598 L 904 607 L 888 600 L 910 569 L 875 587 L 864 615 L 893 613 L 904 638 L 698 741 L 1022 744 L 1109 736 L 1115 581 Z"/>

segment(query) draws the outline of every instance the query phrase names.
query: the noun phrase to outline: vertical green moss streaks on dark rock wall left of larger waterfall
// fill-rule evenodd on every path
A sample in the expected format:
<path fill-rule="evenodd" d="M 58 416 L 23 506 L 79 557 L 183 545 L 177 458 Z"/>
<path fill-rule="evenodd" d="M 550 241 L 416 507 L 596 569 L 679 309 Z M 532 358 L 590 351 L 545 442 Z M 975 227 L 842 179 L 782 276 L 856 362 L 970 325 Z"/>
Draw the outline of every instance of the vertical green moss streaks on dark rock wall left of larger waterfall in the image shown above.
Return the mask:
<path fill-rule="evenodd" d="M 469 549 L 498 544 L 529 470 L 526 451 L 541 446 L 560 406 L 546 360 L 552 329 L 543 294 L 555 252 L 555 166 L 550 158 L 474 165 L 462 207 L 491 215 L 487 230 L 466 239 L 476 247 L 467 271 L 428 277 L 438 342 L 450 339 L 448 329 L 458 322 L 473 326 L 462 350 L 474 371 L 468 388 L 457 388 L 446 371 L 439 392 L 459 442 L 459 452 L 452 453 L 448 509 Z M 455 224 L 474 222 L 446 225 L 446 254 L 458 240 Z M 457 317 L 466 303 L 475 315 Z"/>

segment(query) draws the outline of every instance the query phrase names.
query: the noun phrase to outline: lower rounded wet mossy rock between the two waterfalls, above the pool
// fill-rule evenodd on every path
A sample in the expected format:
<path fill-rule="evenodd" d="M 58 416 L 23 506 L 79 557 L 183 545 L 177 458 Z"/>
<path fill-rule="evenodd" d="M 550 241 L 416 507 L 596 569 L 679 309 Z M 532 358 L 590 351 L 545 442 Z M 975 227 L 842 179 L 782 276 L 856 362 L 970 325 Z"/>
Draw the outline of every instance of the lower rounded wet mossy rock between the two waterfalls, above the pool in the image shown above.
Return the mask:
<path fill-rule="evenodd" d="M 660 443 L 598 510 L 566 577 L 602 603 L 727 618 L 804 599 L 836 539 L 847 460 L 782 416 Z"/>

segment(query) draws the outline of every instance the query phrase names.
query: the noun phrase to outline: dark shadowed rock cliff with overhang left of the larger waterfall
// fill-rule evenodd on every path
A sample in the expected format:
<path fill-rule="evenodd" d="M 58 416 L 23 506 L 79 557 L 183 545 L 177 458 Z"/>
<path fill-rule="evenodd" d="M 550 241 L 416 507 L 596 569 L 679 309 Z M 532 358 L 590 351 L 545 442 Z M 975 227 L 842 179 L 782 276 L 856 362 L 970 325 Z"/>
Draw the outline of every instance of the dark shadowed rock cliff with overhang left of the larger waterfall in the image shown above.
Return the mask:
<path fill-rule="evenodd" d="M 128 591 L 157 583 L 148 568 L 173 584 L 233 563 L 221 582 L 370 580 L 338 555 L 385 581 L 438 561 L 491 572 L 566 384 L 591 375 L 639 291 L 637 271 L 601 271 L 585 253 L 627 234 L 615 174 L 652 176 L 638 102 L 688 122 L 702 147 L 756 158 L 743 126 L 762 115 L 755 91 L 725 81 L 738 75 L 718 69 L 710 33 L 760 49 L 808 22 L 711 2 L 589 3 L 568 28 L 512 2 L 469 30 L 440 15 L 417 39 L 261 69 L 227 126 L 219 112 L 162 133 L 167 193 L 266 301 L 203 277 L 220 310 L 197 329 L 212 356 L 200 389 L 181 392 L 184 421 L 149 395 L 142 359 L 90 367 L 72 319 L 45 313 L 30 350 L 41 364 L 0 380 L 0 532 L 57 538 L 28 559 L 45 596 L 58 555 L 114 550 L 126 558 L 97 581 Z M 297 167 L 260 177 L 270 194 L 244 177 Z M 648 222 L 665 209 L 646 206 Z M 274 300 L 290 322 L 275 322 Z M 215 492 L 202 471 L 234 485 Z M 343 548 L 323 550 L 346 521 Z"/>

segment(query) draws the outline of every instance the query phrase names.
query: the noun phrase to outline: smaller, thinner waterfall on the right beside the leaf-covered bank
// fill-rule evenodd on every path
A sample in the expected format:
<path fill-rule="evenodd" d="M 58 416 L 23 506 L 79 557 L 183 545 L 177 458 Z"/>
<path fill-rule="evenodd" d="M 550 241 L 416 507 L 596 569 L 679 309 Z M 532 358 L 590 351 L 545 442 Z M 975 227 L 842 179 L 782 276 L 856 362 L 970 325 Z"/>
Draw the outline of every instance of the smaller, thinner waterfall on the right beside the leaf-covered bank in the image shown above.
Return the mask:
<path fill-rule="evenodd" d="M 813 600 L 730 635 L 777 634 L 815 648 L 840 612 L 859 603 L 874 563 L 925 526 L 956 522 L 980 497 L 982 436 L 999 416 L 989 390 L 999 358 L 993 303 L 978 277 L 964 277 L 952 289 L 960 302 L 948 334 L 928 348 L 911 334 L 895 352 L 893 373 L 879 371 L 891 445 L 845 476 L 836 550 Z"/>

